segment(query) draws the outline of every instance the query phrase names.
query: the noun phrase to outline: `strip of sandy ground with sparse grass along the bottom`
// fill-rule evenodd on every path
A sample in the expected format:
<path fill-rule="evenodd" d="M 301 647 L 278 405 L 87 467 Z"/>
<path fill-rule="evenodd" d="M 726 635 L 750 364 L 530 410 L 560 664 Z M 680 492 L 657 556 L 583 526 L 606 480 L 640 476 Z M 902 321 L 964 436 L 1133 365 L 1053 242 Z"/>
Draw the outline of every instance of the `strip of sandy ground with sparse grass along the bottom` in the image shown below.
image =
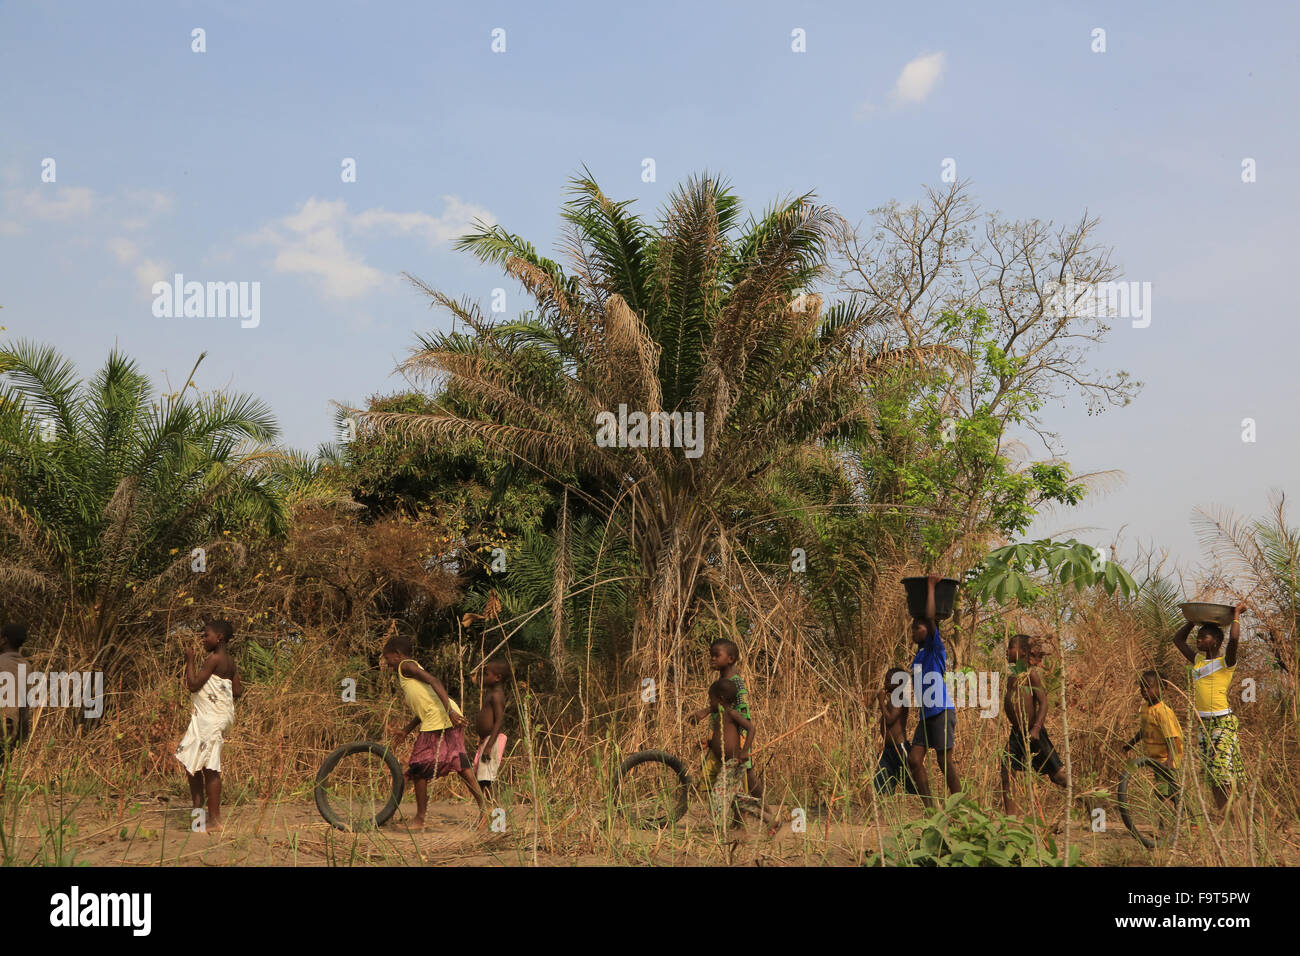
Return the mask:
<path fill-rule="evenodd" d="M 192 832 L 188 801 L 164 791 L 127 799 L 66 796 L 61 810 L 43 801 L 6 808 L 4 816 L 16 862 L 61 860 L 91 866 L 858 865 L 880 842 L 875 826 L 815 818 L 806 821 L 802 832 L 788 818 L 775 827 L 750 821 L 744 831 L 724 839 L 707 812 L 696 806 L 673 831 L 608 825 L 599 821 L 598 808 L 588 813 L 576 808 L 559 826 L 543 826 L 534 847 L 526 805 L 506 818 L 504 832 L 478 830 L 478 814 L 468 800 L 430 801 L 424 831 L 406 826 L 413 809 L 407 795 L 390 823 L 359 834 L 328 826 L 309 799 L 240 803 L 226 808 L 220 831 Z M 65 821 L 61 832 L 49 826 L 58 818 Z M 584 818 L 593 822 L 582 825 Z M 1195 848 L 1148 852 L 1122 827 L 1093 834 L 1076 825 L 1074 839 L 1084 861 L 1093 865 L 1208 862 Z M 1227 840 L 1225 845 L 1231 856 L 1242 855 L 1234 862 L 1247 861 L 1244 844 Z M 1295 829 L 1275 832 L 1270 845 L 1275 858 L 1300 862 Z"/>

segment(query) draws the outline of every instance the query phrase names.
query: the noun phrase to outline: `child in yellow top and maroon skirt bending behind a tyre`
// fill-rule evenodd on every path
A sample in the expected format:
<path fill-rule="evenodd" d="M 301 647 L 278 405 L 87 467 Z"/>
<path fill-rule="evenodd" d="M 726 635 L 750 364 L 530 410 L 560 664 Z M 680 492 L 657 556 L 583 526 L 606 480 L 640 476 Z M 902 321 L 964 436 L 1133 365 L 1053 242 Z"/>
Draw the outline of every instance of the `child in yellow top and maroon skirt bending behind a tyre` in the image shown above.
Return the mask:
<path fill-rule="evenodd" d="M 415 719 L 402 730 L 398 743 L 404 741 L 415 728 L 420 728 L 406 774 L 415 784 L 415 819 L 411 821 L 410 829 L 424 829 L 424 814 L 429 806 L 429 780 L 450 773 L 456 773 L 465 782 L 465 788 L 477 801 L 484 814 L 478 821 L 481 829 L 488 821 L 486 803 L 482 791 L 478 790 L 478 782 L 474 780 L 469 757 L 465 756 L 464 726 L 469 722 L 455 701 L 447 696 L 442 682 L 416 663 L 412 653 L 411 639 L 400 635 L 390 637 L 384 645 L 384 666 L 398 672 L 402 693 L 415 711 Z"/>

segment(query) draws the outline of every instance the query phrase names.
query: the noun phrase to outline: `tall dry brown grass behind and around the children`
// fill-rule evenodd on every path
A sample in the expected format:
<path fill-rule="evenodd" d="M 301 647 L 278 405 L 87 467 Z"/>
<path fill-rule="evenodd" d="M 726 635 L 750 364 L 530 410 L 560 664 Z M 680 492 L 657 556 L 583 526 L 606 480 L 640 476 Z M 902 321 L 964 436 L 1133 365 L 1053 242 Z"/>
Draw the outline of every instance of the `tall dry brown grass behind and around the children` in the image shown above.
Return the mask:
<path fill-rule="evenodd" d="M 517 861 L 734 862 L 767 852 L 758 844 L 749 856 L 737 857 L 734 842 L 707 827 L 628 834 L 611 818 L 614 771 L 628 753 L 663 748 L 698 767 L 703 730 L 688 724 L 685 715 L 706 700 L 712 679 L 707 645 L 714 637 L 729 637 L 741 649 L 740 671 L 758 727 L 755 765 L 770 816 L 780 827 L 790 827 L 794 810 L 807 821 L 802 856 L 796 861 L 861 862 L 881 851 L 889 832 L 924 812 L 916 797 L 879 796 L 871 786 L 880 752 L 875 692 L 885 669 L 907 666 L 913 654 L 906 607 L 894 581 L 915 570 L 905 563 L 880 570 L 859 640 L 848 645 L 832 645 L 824 632 L 809 626 L 814 617 L 797 588 L 750 578 L 724 593 L 744 594 L 749 587 L 751 594 L 715 597 L 697 615 L 690 645 L 663 662 L 653 700 L 644 697 L 647 675 L 620 662 L 592 661 L 556 674 L 547 661 L 508 645 L 497 650 L 515 667 L 507 718 L 514 744 L 498 800 L 510 804 L 517 821 L 512 830 Z M 204 607 L 213 607 L 213 600 L 205 594 Z M 192 613 L 192 605 L 174 611 L 181 619 Z M 360 630 L 348 631 L 358 622 Z M 1243 644 L 1236 671 L 1234 693 L 1247 679 L 1261 691 L 1254 702 L 1236 706 L 1248 784 L 1239 795 L 1235 827 L 1221 827 L 1208 791 L 1196 786 L 1186 667 L 1161 650 L 1169 635 L 1149 633 L 1131 607 L 1105 596 L 1071 605 L 1063 640 L 1052 632 L 1053 624 L 1024 614 L 983 619 L 974 631 L 968 622 L 958 623 L 945 628 L 952 663 L 1000 676 L 1006 670 L 1004 635 L 1026 631 L 1043 637 L 1052 708 L 1046 727 L 1062 756 L 1069 750 L 1079 797 L 1071 839 L 1083 847 L 1087 861 L 1275 865 L 1300 860 L 1300 735 L 1290 718 L 1290 698 L 1261 648 Z M 295 627 L 283 636 L 256 627 L 240 631 L 234 650 L 248 691 L 237 705 L 224 756 L 228 804 L 261 816 L 286 804 L 309 805 L 316 769 L 329 750 L 358 739 L 389 739 L 406 722 L 393 676 L 376 666 L 384 637 L 395 626 L 367 611 L 342 624 Z M 469 714 L 480 700 L 472 675 L 510 627 L 511 622 L 491 622 L 484 631 L 458 630 L 426 656 L 432 672 Z M 69 669 L 66 646 L 56 635 L 34 654 L 34 666 Z M 183 775 L 172 757 L 190 715 L 181 683 L 182 650 L 183 641 L 176 639 L 139 661 L 130 676 L 108 688 L 112 700 L 98 722 L 68 711 L 39 713 L 16 762 L 17 786 L 10 793 L 72 786 L 96 793 L 101 804 L 120 812 L 142 793 L 164 792 L 183 801 Z M 1135 680 L 1152 666 L 1164 669 L 1166 700 L 1182 719 L 1187 805 L 1201 819 L 1199 830 L 1175 849 L 1156 853 L 1123 832 L 1114 806 L 1123 765 L 1119 745 L 1135 732 L 1140 706 Z M 1069 736 L 1062 732 L 1062 674 Z M 356 682 L 355 702 L 343 698 L 347 679 Z M 915 722 L 914 711 L 909 732 Z M 993 718 L 962 710 L 957 730 L 963 788 L 980 805 L 1000 808 L 998 753 L 1008 736 L 1001 708 Z M 764 748 L 764 741 L 775 743 Z M 1027 790 L 1019 796 L 1022 808 L 1030 808 L 1046 830 L 1061 831 L 1063 792 L 1036 775 L 1020 777 L 1018 784 Z M 942 786 L 936 773 L 931 778 L 933 786 Z M 464 795 L 459 783 L 443 782 L 433 799 L 462 800 Z M 1092 830 L 1093 808 L 1106 812 L 1104 832 Z M 783 860 L 790 861 L 788 855 Z"/>

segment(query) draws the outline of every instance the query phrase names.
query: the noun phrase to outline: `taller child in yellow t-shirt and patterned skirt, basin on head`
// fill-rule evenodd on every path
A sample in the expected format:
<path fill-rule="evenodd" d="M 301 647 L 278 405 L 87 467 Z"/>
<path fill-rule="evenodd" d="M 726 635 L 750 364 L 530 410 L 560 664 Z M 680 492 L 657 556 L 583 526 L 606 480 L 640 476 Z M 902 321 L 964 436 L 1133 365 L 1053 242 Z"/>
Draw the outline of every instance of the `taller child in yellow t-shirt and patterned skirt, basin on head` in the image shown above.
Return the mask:
<path fill-rule="evenodd" d="M 1192 665 L 1192 695 L 1200 723 L 1196 743 L 1214 791 L 1214 805 L 1221 810 L 1227 806 L 1230 791 L 1245 782 L 1236 714 L 1227 701 L 1232 671 L 1236 670 L 1236 643 L 1242 635 L 1244 610 L 1244 601 L 1232 610 L 1232 628 L 1222 654 L 1223 628 L 1218 624 L 1200 626 L 1196 653 L 1187 644 L 1195 624 L 1183 624 L 1174 635 L 1174 646 Z"/>

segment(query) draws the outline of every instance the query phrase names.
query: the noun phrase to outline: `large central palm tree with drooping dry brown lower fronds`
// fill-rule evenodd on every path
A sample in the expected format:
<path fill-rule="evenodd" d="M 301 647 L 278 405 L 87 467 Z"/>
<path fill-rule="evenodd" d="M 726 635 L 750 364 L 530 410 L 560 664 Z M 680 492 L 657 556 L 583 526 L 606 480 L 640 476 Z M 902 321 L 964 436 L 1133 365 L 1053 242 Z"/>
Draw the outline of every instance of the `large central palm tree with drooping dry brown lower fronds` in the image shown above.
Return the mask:
<path fill-rule="evenodd" d="M 876 316 L 857 300 L 823 312 L 803 294 L 837 221 L 811 195 L 742 222 L 738 198 L 702 176 L 649 222 L 586 174 L 562 215 L 568 271 L 500 226 L 477 224 L 458 243 L 524 286 L 536 308 L 515 320 L 412 280 L 468 332 L 421 336 L 402 371 L 477 414 L 369 418 L 430 438 L 478 437 L 563 480 L 577 503 L 619 515 L 638 558 L 632 650 L 646 675 L 681 650 L 731 520 L 724 501 L 758 493 L 796 450 L 858 428 L 863 381 L 902 355 L 859 346 Z M 602 446 L 598 416 L 619 406 L 702 415 L 698 447 Z"/>

